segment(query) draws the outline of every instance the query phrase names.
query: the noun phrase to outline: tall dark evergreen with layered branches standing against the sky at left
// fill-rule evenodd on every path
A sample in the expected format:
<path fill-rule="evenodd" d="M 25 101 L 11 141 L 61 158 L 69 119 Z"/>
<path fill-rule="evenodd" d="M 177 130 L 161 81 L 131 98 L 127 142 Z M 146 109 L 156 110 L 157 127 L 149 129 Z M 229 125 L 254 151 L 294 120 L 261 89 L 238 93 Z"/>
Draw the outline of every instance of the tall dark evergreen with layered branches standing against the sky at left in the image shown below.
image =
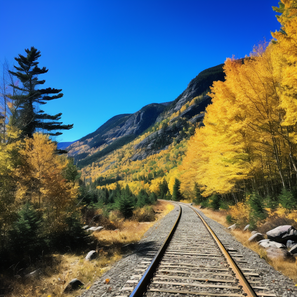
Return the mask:
<path fill-rule="evenodd" d="M 45 83 L 45 80 L 38 79 L 38 75 L 48 72 L 48 69 L 38 67 L 39 62 L 37 62 L 37 59 L 41 54 L 37 48 L 32 46 L 30 50 L 27 48 L 25 51 L 27 56 L 19 54 L 18 57 L 15 57 L 15 61 L 19 64 L 19 66 L 14 66 L 17 71 L 10 71 L 22 83 L 22 86 L 11 85 L 22 92 L 18 111 L 18 125 L 23 131 L 23 136 L 29 136 L 30 138 L 38 129 L 43 130 L 48 135 L 61 135 L 61 132 L 54 133 L 53 131 L 69 130 L 73 127 L 73 124 L 62 125 L 63 122 L 59 122 L 62 113 L 52 116 L 41 110 L 39 106 L 46 104 L 47 101 L 63 97 L 62 89 L 38 89 L 38 85 Z"/>

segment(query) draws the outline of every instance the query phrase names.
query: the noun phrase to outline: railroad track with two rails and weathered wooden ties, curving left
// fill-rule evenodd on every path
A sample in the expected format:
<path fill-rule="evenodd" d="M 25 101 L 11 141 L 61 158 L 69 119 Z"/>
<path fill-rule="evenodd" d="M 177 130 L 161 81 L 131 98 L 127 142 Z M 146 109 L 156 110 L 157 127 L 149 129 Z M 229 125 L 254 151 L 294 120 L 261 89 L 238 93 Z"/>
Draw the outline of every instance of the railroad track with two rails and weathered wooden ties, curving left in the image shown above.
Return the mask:
<path fill-rule="evenodd" d="M 174 203 L 180 212 L 170 234 L 160 238 L 159 249 L 149 252 L 135 268 L 123 293 L 133 290 L 130 297 L 277 296 L 261 285 L 260 275 L 248 268 L 248 259 L 232 249 L 219 230 L 212 230 L 195 208 Z"/>

